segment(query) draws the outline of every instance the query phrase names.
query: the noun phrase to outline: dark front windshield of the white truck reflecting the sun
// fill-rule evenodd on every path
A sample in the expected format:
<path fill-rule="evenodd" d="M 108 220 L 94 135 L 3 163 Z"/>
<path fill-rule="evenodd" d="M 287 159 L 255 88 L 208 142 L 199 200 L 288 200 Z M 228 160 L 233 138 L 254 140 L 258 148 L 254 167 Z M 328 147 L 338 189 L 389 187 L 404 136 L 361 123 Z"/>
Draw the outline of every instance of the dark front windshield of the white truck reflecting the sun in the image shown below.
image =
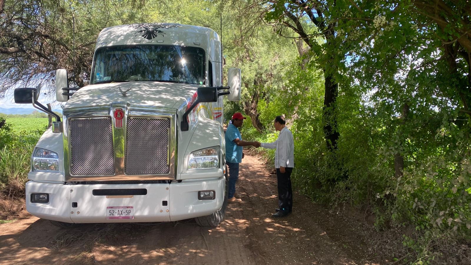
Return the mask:
<path fill-rule="evenodd" d="M 91 83 L 160 81 L 204 84 L 204 50 L 170 45 L 112 46 L 96 51 Z"/>

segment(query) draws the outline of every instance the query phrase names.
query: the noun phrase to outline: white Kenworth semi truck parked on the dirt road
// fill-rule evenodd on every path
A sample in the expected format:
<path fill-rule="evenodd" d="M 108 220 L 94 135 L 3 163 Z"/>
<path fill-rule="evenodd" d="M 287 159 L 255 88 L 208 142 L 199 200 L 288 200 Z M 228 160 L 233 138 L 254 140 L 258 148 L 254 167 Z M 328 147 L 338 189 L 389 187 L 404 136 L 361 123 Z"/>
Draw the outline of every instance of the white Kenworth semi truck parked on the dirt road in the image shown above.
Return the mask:
<path fill-rule="evenodd" d="M 16 103 L 56 116 L 31 158 L 26 209 L 60 227 L 195 218 L 217 226 L 227 205 L 219 35 L 205 27 L 135 24 L 99 33 L 90 84 L 56 71 L 63 119 L 17 88 Z"/>

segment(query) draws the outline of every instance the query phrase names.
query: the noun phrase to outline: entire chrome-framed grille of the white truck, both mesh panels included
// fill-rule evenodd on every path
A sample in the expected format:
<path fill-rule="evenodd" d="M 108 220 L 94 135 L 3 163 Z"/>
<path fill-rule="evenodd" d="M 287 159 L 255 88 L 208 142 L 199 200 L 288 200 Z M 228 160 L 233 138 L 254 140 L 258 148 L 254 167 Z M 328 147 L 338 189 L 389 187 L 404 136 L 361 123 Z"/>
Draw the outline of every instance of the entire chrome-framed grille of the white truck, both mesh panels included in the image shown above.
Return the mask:
<path fill-rule="evenodd" d="M 125 110 L 118 119 L 116 111 Z M 115 104 L 65 112 L 66 181 L 176 178 L 176 110 Z"/>

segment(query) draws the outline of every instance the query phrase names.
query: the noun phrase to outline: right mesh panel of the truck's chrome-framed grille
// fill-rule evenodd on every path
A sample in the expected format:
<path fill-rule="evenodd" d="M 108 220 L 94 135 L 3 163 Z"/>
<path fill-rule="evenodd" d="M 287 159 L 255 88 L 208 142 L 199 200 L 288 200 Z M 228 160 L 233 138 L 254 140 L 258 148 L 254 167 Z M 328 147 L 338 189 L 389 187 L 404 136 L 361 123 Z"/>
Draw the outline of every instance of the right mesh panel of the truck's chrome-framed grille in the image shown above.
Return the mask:
<path fill-rule="evenodd" d="M 126 174 L 169 174 L 169 118 L 129 117 L 126 135 Z"/>

